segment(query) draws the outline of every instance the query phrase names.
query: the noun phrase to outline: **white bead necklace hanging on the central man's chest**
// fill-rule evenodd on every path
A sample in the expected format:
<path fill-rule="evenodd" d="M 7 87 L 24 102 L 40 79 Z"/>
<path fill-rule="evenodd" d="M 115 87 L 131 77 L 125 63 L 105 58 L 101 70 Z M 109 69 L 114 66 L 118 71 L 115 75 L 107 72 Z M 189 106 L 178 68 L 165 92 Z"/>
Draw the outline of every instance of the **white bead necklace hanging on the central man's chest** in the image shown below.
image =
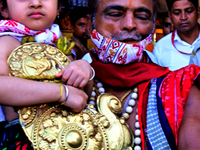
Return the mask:
<path fill-rule="evenodd" d="M 97 88 L 98 88 L 98 92 L 100 94 L 105 93 L 105 89 L 103 87 L 103 84 L 101 82 L 96 81 L 97 83 Z M 90 96 L 90 101 L 89 104 L 95 106 L 95 101 L 96 101 L 96 92 L 95 92 L 95 87 L 93 87 L 91 96 Z M 122 114 L 122 117 L 124 117 L 125 119 L 129 118 L 129 114 L 131 114 L 133 112 L 133 107 L 136 104 L 136 99 L 138 99 L 138 89 L 137 87 L 134 88 L 133 92 L 131 92 L 131 97 L 130 100 L 128 102 L 128 106 L 125 109 L 125 113 Z M 94 107 L 95 109 L 95 107 Z M 135 122 L 135 139 L 134 139 L 134 150 L 141 150 L 141 138 L 140 138 L 140 125 L 139 125 L 139 121 L 138 121 L 138 109 L 136 109 L 136 116 L 135 116 L 136 122 Z"/>

